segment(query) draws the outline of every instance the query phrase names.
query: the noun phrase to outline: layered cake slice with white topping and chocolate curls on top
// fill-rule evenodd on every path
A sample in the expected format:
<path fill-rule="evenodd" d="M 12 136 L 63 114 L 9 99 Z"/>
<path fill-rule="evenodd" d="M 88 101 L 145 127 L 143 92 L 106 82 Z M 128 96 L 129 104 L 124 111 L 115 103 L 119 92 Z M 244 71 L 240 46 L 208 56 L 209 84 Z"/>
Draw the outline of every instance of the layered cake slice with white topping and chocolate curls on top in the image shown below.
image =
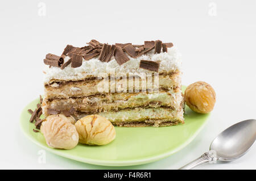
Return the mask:
<path fill-rule="evenodd" d="M 98 114 L 119 127 L 183 123 L 181 58 L 160 40 L 113 45 L 91 40 L 47 54 L 42 103 L 45 116 L 80 119 Z"/>

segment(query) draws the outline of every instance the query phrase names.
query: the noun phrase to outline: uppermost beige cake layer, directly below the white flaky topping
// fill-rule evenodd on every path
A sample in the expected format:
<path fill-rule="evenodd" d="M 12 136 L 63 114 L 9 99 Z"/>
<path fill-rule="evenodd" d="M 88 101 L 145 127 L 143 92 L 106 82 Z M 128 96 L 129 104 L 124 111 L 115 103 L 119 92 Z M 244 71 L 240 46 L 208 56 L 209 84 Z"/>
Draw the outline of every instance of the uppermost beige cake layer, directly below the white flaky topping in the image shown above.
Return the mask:
<path fill-rule="evenodd" d="M 125 81 L 125 82 L 124 82 Z M 181 88 L 181 73 L 175 75 L 159 75 L 158 82 L 155 80 L 152 83 L 143 85 L 142 80 L 138 84 L 125 80 L 110 80 L 106 82 L 104 79 L 95 81 L 79 81 L 70 82 L 64 85 L 52 83 L 44 89 L 44 99 L 56 99 L 70 97 L 84 97 L 105 92 L 142 92 L 142 90 L 151 90 L 151 92 L 158 92 L 160 89 L 179 91 Z M 130 90 L 130 91 L 129 91 Z M 148 91 L 147 91 L 148 92 Z"/>

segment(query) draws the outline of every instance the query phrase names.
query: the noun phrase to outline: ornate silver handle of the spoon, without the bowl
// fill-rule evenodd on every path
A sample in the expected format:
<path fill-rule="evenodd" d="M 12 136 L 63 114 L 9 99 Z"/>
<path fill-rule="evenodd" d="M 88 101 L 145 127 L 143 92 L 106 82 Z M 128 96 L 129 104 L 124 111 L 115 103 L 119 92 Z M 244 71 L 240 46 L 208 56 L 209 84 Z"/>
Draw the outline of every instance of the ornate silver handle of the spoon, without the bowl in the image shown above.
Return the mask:
<path fill-rule="evenodd" d="M 196 167 L 196 166 L 201 165 L 206 162 L 209 162 L 209 163 L 217 162 L 216 151 L 210 150 L 210 151 L 204 153 L 203 155 L 201 155 L 201 157 L 199 157 L 199 158 L 195 159 L 194 161 L 188 163 L 187 165 L 181 167 L 179 170 L 189 170 L 189 169 L 192 169 L 193 167 Z"/>

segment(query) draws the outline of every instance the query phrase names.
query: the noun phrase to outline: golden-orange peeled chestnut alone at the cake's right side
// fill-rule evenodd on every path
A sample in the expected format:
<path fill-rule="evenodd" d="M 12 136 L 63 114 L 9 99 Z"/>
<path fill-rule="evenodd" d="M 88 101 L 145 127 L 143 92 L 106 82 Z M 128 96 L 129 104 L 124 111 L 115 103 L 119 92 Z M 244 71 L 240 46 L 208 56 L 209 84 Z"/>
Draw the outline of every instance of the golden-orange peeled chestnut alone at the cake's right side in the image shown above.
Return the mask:
<path fill-rule="evenodd" d="M 187 106 L 198 113 L 209 113 L 216 102 L 216 93 L 212 86 L 203 81 L 189 85 L 184 96 Z"/>

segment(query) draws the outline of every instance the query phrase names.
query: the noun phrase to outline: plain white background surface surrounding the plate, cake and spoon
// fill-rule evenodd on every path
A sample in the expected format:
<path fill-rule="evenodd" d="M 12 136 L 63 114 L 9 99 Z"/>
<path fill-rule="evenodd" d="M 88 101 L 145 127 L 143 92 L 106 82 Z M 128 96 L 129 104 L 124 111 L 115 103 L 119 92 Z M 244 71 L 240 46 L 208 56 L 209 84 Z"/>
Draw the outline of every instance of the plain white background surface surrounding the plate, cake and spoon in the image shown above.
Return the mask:
<path fill-rule="evenodd" d="M 48 151 L 46 163 L 40 163 L 41 148 L 23 136 L 18 124 L 23 107 L 43 92 L 44 56 L 91 39 L 172 41 L 183 54 L 183 84 L 205 81 L 217 94 L 206 127 L 186 148 L 158 162 L 121 169 L 177 169 L 207 151 L 229 125 L 256 118 L 256 1 L 43 2 L 46 16 L 39 16 L 40 1 L 0 3 L 0 169 L 111 169 Z M 256 145 L 237 161 L 197 169 L 256 169 L 255 153 Z"/>

